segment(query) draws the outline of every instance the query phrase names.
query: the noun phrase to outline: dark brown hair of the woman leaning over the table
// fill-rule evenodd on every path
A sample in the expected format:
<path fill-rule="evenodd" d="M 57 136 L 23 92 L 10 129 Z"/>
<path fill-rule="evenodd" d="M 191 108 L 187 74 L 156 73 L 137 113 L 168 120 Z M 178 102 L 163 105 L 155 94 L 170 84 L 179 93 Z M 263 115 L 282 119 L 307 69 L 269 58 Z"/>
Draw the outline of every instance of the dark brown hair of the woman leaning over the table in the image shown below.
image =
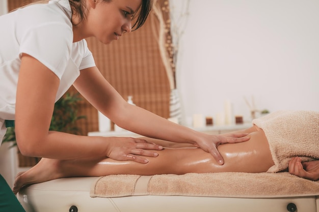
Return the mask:
<path fill-rule="evenodd" d="M 112 0 L 103 0 L 104 2 L 111 2 Z M 69 0 L 70 6 L 72 8 L 72 14 L 76 13 L 79 16 L 79 22 L 78 23 L 73 23 L 73 25 L 79 24 L 82 20 L 84 20 L 85 17 L 85 10 L 86 10 L 86 5 L 83 3 L 82 0 Z M 141 7 L 139 8 L 137 20 L 133 24 L 132 28 L 134 30 L 140 28 L 146 21 L 146 18 L 148 14 L 150 13 L 152 9 L 152 0 L 142 0 Z"/>

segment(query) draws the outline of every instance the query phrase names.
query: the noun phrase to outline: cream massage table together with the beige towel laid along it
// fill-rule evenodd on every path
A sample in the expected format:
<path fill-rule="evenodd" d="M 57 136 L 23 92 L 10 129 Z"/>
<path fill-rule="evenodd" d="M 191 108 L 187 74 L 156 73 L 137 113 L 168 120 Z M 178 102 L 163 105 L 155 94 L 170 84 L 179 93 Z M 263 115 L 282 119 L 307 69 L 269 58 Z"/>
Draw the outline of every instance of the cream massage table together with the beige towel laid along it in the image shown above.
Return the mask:
<path fill-rule="evenodd" d="M 17 197 L 27 212 L 319 212 L 319 181 L 287 172 L 72 177 Z"/>

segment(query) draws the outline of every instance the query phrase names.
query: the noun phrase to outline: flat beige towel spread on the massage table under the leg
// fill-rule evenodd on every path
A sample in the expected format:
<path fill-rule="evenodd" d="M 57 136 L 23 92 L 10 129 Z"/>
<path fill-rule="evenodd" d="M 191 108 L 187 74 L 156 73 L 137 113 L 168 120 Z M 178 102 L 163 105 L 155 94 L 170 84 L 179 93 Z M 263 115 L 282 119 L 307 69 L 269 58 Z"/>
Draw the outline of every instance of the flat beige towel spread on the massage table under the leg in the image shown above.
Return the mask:
<path fill-rule="evenodd" d="M 91 186 L 91 197 L 180 195 L 274 198 L 319 195 L 319 181 L 280 173 L 188 173 L 152 176 L 110 175 Z"/>

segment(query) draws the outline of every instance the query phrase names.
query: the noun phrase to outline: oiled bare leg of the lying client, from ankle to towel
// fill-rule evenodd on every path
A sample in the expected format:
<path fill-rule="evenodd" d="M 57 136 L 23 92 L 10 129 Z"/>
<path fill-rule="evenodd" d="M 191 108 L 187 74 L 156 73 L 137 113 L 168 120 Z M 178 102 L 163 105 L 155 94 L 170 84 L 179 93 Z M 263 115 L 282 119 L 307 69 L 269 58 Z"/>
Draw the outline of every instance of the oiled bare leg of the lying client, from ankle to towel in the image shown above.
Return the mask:
<path fill-rule="evenodd" d="M 102 176 L 109 174 L 184 174 L 189 172 L 265 172 L 274 162 L 269 150 L 269 144 L 264 132 L 253 126 L 244 131 L 249 133 L 250 140 L 241 143 L 222 144 L 218 147 L 225 163 L 219 165 L 209 153 L 191 144 L 172 143 L 157 139 L 145 138 L 147 141 L 163 145 L 164 150 L 155 151 L 158 156 L 148 157 L 147 164 L 139 164 L 132 161 L 115 161 L 112 159 L 77 161 L 81 167 L 73 166 L 76 172 L 66 174 L 72 176 Z M 235 132 L 235 133 L 240 133 Z M 66 164 L 65 164 L 66 165 Z M 69 164 L 71 165 L 71 164 Z M 75 164 L 73 164 L 75 165 Z M 65 173 L 72 170 L 68 166 Z M 70 169 L 71 168 L 71 169 Z"/>

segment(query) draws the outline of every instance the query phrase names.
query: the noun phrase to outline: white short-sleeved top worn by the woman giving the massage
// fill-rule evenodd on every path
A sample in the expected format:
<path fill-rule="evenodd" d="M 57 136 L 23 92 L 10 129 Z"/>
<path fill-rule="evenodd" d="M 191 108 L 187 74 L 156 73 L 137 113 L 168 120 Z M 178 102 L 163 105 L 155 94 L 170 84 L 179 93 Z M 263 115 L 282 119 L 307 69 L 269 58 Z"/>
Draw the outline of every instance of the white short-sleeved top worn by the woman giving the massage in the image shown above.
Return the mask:
<path fill-rule="evenodd" d="M 0 16 L 0 27 L 0 129 L 5 119 L 15 119 L 22 53 L 35 57 L 59 77 L 56 101 L 79 76 L 79 70 L 95 66 L 86 41 L 73 43 L 68 0 L 52 0 Z"/>

